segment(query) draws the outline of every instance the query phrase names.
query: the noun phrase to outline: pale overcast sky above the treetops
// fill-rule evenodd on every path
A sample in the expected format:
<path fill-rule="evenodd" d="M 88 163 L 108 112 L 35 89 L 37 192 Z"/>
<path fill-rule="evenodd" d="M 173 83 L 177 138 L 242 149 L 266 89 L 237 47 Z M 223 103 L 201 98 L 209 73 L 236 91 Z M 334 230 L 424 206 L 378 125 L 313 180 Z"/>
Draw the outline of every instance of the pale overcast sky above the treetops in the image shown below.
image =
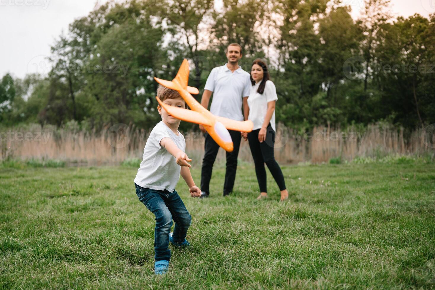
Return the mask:
<path fill-rule="evenodd" d="M 98 0 L 99 3 L 105 0 Z M 121 0 L 120 0 L 121 1 Z M 219 1 L 219 0 L 215 0 Z M 356 17 L 364 0 L 343 0 Z M 50 46 L 74 19 L 95 7 L 95 0 L 0 0 L 0 77 L 10 72 L 23 78 L 28 72 L 47 73 L 44 60 Z M 435 12 L 435 0 L 391 0 L 395 16 Z"/>

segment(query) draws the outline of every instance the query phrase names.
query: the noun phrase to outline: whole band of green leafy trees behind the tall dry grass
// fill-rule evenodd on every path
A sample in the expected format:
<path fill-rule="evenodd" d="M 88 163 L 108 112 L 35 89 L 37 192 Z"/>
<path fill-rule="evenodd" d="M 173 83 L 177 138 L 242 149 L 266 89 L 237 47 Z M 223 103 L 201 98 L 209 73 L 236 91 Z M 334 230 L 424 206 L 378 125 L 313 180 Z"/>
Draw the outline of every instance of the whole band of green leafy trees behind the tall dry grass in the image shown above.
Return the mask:
<path fill-rule="evenodd" d="M 153 77 L 174 78 L 188 58 L 189 84 L 202 92 L 227 61 L 225 47 L 238 42 L 243 69 L 268 61 L 277 121 L 288 127 L 435 123 L 435 16 L 394 19 L 389 0 L 365 0 L 354 20 L 341 2 L 224 0 L 218 9 L 211 0 L 107 1 L 59 36 L 48 76 L 3 76 L 0 121 L 149 129 L 160 120 Z"/>

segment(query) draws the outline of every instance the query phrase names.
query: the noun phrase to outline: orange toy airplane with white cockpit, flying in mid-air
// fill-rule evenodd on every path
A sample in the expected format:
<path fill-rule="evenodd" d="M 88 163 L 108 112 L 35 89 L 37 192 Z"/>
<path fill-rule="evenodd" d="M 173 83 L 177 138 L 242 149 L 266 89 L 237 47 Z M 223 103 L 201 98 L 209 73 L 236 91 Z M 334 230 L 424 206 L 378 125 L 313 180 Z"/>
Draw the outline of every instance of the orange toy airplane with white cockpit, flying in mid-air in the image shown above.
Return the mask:
<path fill-rule="evenodd" d="M 187 59 L 184 59 L 183 63 L 181 63 L 177 76 L 175 76 L 172 82 L 157 79 L 156 77 L 154 77 L 154 79 L 162 86 L 178 91 L 191 110 L 165 105 L 161 99 L 156 96 L 157 102 L 159 102 L 161 107 L 164 108 L 168 114 L 177 119 L 203 125 L 211 138 L 213 138 L 219 146 L 224 148 L 225 151 L 231 152 L 234 149 L 233 140 L 231 139 L 228 129 L 241 132 L 252 131 L 254 124 L 251 120 L 241 122 L 215 116 L 192 97 L 191 94 L 199 94 L 199 91 L 197 88 L 187 86 L 189 80 L 189 63 Z"/>

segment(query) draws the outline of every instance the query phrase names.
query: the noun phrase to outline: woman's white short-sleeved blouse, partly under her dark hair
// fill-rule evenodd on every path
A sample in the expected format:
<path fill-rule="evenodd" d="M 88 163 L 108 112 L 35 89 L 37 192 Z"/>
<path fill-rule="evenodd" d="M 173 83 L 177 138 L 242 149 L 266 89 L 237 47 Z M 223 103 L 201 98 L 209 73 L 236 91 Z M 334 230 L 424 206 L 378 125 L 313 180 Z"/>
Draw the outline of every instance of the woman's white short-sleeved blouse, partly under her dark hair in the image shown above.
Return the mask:
<path fill-rule="evenodd" d="M 254 123 L 254 128 L 252 130 L 260 129 L 264 122 L 264 117 L 266 117 L 266 112 L 268 111 L 268 102 L 276 101 L 278 96 L 276 95 L 276 88 L 271 80 L 266 81 L 266 86 L 264 86 L 263 94 L 257 92 L 258 86 L 261 82 L 256 83 L 251 87 L 248 98 L 249 106 L 249 116 L 248 119 Z M 271 127 L 275 129 L 275 111 L 273 112 L 271 118 Z"/>

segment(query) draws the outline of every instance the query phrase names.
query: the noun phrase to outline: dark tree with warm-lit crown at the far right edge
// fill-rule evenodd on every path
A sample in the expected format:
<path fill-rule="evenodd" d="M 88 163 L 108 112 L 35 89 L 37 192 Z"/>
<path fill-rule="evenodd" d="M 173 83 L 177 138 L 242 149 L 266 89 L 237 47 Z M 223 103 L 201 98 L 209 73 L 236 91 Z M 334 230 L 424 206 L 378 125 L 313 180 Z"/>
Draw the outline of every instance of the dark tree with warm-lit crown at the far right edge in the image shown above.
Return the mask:
<path fill-rule="evenodd" d="M 429 73 L 434 61 L 430 49 L 434 47 L 433 17 L 399 17 L 385 26 L 375 51 L 380 67 L 378 82 L 383 91 L 381 105 L 385 114 L 395 113 L 395 122 L 407 127 L 425 125 L 425 119 L 432 118 L 425 111 L 433 112 L 430 108 L 434 100 L 430 90 L 434 77 Z"/>

